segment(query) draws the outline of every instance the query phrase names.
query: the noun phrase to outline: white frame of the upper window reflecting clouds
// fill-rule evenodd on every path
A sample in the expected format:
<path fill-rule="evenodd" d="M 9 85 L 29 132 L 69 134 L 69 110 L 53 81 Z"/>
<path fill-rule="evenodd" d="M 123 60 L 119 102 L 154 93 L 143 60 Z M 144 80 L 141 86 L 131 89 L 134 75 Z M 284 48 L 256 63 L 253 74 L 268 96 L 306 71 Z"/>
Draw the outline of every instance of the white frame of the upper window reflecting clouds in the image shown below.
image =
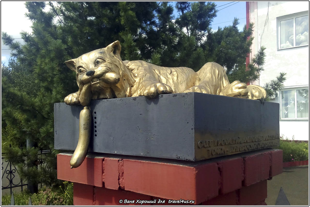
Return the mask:
<path fill-rule="evenodd" d="M 309 16 L 309 11 L 301 11 L 301 12 L 297 12 L 297 13 L 294 13 L 294 14 L 289 14 L 289 15 L 277 17 L 277 50 L 285 50 L 285 49 L 290 49 L 290 48 L 309 46 L 309 39 L 308 39 L 308 44 L 295 46 L 296 45 L 295 19 L 298 18 L 298 17 L 302 17 L 302 16 Z M 294 36 L 293 44 L 294 44 L 294 46 L 293 47 L 281 48 L 281 34 L 280 34 L 281 33 L 281 28 L 280 28 L 280 22 L 281 21 L 285 21 L 285 20 L 290 20 L 290 19 L 293 19 L 293 36 Z M 308 22 L 308 24 L 309 24 L 309 22 Z M 309 33 L 309 29 L 308 29 L 308 33 Z"/>

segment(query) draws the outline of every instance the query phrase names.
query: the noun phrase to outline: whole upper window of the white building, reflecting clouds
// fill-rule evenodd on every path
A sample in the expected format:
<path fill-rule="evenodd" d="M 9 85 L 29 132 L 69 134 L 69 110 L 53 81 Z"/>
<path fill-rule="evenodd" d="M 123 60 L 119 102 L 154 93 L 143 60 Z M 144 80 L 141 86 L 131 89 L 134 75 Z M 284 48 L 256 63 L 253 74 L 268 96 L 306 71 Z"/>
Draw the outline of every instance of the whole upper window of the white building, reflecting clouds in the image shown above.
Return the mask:
<path fill-rule="evenodd" d="M 278 49 L 309 44 L 308 11 L 277 17 Z"/>

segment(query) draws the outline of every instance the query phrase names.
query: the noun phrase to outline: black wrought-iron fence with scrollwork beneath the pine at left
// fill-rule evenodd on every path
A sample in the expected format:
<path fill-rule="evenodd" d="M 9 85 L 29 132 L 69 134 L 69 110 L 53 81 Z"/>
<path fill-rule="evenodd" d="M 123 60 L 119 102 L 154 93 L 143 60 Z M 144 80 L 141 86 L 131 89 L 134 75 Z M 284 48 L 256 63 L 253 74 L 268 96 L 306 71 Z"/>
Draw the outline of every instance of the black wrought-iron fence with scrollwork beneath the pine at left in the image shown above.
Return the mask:
<path fill-rule="evenodd" d="M 40 151 L 38 152 L 38 166 L 42 167 L 42 165 L 45 164 L 46 158 L 44 155 L 50 153 L 51 151 L 49 149 L 40 149 Z M 9 160 L 5 159 L 3 155 L 4 153 L 1 154 L 1 190 L 10 189 L 10 193 L 12 194 L 13 188 L 20 187 L 21 191 L 23 191 L 23 188 L 26 186 L 28 188 L 28 183 L 23 182 L 23 180 L 19 177 L 15 165 Z M 42 188 L 42 183 L 38 184 L 40 184 L 40 187 Z"/>

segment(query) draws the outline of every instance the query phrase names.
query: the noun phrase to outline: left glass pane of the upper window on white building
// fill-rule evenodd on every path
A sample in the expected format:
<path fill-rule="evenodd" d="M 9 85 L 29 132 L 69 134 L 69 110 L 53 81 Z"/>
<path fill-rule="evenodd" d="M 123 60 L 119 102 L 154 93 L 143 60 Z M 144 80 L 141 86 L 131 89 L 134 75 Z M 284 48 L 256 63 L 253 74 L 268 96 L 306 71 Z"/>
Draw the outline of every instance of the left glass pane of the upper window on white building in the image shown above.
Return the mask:
<path fill-rule="evenodd" d="M 287 48 L 294 46 L 294 19 L 284 20 L 280 22 L 280 48 Z"/>

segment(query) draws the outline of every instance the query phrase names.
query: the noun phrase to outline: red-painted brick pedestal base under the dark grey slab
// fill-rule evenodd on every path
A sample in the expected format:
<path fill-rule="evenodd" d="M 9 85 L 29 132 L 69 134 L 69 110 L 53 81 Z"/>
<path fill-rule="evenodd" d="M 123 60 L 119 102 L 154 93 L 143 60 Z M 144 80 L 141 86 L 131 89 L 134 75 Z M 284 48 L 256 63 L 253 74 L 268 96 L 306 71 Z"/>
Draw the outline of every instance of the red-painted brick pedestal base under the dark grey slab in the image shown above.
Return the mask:
<path fill-rule="evenodd" d="M 74 205 L 266 205 L 267 179 L 282 173 L 277 149 L 199 162 L 88 155 L 75 169 L 71 155 L 57 155 L 57 174 L 74 182 Z"/>

